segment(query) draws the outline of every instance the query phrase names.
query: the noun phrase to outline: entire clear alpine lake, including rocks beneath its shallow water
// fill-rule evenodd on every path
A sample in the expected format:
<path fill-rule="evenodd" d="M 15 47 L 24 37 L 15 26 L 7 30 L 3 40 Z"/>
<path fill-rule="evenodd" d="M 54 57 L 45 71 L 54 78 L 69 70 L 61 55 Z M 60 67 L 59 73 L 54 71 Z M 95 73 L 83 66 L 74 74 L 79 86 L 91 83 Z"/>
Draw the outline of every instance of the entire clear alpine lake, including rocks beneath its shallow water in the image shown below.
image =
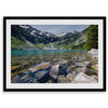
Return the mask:
<path fill-rule="evenodd" d="M 11 83 L 72 83 L 79 72 L 98 78 L 86 50 L 12 50 Z"/>

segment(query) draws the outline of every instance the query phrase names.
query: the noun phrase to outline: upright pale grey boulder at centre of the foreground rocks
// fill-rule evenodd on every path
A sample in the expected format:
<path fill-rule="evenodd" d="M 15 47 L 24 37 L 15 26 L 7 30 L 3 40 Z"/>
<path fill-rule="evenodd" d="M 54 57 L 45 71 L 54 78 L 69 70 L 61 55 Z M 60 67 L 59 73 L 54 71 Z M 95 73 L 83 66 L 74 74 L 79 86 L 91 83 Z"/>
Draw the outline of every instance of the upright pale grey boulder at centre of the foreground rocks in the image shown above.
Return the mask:
<path fill-rule="evenodd" d="M 50 77 L 52 77 L 53 79 L 57 79 L 58 67 L 59 67 L 59 65 L 55 65 L 55 66 L 51 67 Z"/>

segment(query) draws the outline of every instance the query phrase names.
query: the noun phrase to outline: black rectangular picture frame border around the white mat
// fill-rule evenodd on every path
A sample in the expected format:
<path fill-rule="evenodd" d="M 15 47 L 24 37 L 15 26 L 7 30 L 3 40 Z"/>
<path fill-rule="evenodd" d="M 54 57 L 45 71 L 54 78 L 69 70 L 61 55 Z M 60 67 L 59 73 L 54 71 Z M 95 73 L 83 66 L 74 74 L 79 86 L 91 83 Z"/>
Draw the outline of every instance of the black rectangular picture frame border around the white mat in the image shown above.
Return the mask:
<path fill-rule="evenodd" d="M 8 19 L 103 19 L 103 89 L 6 89 Z M 3 17 L 3 92 L 106 92 L 106 16 L 4 16 Z"/>

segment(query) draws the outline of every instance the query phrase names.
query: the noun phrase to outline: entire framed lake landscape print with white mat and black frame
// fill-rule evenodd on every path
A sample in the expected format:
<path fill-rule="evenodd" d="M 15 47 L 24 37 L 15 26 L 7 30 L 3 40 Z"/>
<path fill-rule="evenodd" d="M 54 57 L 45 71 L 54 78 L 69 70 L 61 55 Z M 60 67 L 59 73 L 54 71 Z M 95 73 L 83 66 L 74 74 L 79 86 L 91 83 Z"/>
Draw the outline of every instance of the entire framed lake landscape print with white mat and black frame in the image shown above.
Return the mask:
<path fill-rule="evenodd" d="M 4 92 L 105 92 L 106 17 L 3 17 Z"/>

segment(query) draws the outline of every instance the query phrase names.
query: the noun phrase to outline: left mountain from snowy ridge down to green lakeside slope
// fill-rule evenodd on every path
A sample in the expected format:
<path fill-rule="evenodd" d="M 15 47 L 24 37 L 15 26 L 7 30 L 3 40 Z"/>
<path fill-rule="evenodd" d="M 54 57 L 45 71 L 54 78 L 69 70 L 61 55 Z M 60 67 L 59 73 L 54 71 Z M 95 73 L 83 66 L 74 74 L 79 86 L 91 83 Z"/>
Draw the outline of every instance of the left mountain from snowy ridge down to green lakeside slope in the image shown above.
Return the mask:
<path fill-rule="evenodd" d="M 60 40 L 55 35 L 38 30 L 30 25 L 12 25 L 11 26 L 12 49 L 35 49 L 36 45 L 46 45 L 50 42 Z M 38 46 L 38 49 L 40 49 Z"/>

